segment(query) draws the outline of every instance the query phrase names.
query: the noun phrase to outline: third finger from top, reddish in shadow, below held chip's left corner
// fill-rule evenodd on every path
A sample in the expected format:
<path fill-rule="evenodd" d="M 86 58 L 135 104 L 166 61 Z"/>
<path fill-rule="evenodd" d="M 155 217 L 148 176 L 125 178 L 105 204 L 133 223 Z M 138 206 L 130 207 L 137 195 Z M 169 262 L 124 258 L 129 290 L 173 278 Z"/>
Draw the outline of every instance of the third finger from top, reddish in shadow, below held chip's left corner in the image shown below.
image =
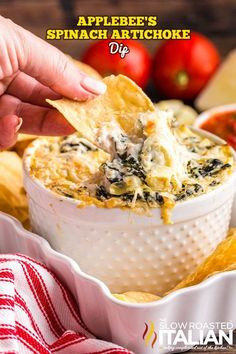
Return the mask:
<path fill-rule="evenodd" d="M 20 131 L 35 135 L 69 135 L 74 128 L 56 110 L 24 103 L 16 97 L 3 95 L 0 97 L 0 112 L 2 116 L 16 115 L 23 118 Z M 7 135 L 9 135 L 9 130 Z M 11 136 L 13 131 L 11 130 Z"/>

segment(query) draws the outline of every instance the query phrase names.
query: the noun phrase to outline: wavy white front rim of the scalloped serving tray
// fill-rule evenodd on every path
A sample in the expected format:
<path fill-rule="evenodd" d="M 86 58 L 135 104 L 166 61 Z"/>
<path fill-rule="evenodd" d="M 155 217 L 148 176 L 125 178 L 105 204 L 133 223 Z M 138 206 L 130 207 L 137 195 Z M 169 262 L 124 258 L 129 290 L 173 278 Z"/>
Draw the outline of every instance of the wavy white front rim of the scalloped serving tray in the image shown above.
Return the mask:
<path fill-rule="evenodd" d="M 211 287 L 214 283 L 220 281 L 221 279 L 230 278 L 232 276 L 236 277 L 236 270 L 230 270 L 225 272 L 219 272 L 209 276 L 208 278 L 204 279 L 201 283 L 196 285 L 191 285 L 189 287 L 185 287 L 182 289 L 177 289 L 166 296 L 163 296 L 160 300 L 155 300 L 152 302 L 145 302 L 145 303 L 131 303 L 131 302 L 124 302 L 122 300 L 117 299 L 115 296 L 112 295 L 111 291 L 109 290 L 108 286 L 101 280 L 95 278 L 92 275 L 89 275 L 81 270 L 79 264 L 74 261 L 71 257 L 66 256 L 60 252 L 55 251 L 49 244 L 47 240 L 43 237 L 26 230 L 23 225 L 11 215 L 6 213 L 0 212 L 0 221 L 1 219 L 7 220 L 7 222 L 11 223 L 16 230 L 16 232 L 23 236 L 26 242 L 37 244 L 37 247 L 46 250 L 46 254 L 49 258 L 57 258 L 61 263 L 66 263 L 72 272 L 75 273 L 76 276 L 82 277 L 83 279 L 89 281 L 90 283 L 95 284 L 104 297 L 111 301 L 115 305 L 119 307 L 125 308 L 137 308 L 137 309 L 150 309 L 150 308 L 159 308 L 163 305 L 168 305 L 171 301 L 180 298 L 181 296 L 188 296 L 189 294 L 204 290 L 206 288 Z M 42 263 L 42 261 L 41 261 Z"/>

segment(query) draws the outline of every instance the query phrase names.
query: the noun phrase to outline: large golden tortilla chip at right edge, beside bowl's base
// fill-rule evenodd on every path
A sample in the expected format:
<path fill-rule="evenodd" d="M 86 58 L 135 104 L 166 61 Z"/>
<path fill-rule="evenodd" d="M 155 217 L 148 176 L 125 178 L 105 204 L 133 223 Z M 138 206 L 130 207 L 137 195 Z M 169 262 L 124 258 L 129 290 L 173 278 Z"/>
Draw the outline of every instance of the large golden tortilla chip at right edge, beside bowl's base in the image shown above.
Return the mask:
<path fill-rule="evenodd" d="M 228 237 L 216 247 L 215 251 L 194 273 L 187 276 L 170 292 L 199 284 L 214 274 L 229 270 L 236 270 L 236 228 L 230 229 Z"/>

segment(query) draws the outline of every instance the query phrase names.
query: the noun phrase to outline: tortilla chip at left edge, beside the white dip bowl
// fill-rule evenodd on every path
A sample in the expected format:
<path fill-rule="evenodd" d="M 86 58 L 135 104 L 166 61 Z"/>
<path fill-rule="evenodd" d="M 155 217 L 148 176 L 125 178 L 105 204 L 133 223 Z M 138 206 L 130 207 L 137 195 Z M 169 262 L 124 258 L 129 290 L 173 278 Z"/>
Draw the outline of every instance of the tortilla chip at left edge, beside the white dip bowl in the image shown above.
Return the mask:
<path fill-rule="evenodd" d="M 28 203 L 22 182 L 22 162 L 13 151 L 0 153 L 0 211 L 26 222 Z"/>

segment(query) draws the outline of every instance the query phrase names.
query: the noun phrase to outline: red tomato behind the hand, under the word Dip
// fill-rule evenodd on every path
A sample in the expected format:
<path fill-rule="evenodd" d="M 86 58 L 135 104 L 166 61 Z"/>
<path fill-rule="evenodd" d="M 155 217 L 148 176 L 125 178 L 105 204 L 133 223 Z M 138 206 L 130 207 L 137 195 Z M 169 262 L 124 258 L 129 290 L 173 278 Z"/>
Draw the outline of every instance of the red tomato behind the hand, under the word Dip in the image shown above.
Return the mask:
<path fill-rule="evenodd" d="M 119 53 L 110 54 L 109 43 L 122 43 L 129 47 L 130 52 L 122 59 Z M 85 51 L 82 61 L 102 76 L 110 74 L 124 74 L 144 88 L 149 79 L 151 58 L 147 49 L 135 40 L 101 40 L 97 41 Z"/>

